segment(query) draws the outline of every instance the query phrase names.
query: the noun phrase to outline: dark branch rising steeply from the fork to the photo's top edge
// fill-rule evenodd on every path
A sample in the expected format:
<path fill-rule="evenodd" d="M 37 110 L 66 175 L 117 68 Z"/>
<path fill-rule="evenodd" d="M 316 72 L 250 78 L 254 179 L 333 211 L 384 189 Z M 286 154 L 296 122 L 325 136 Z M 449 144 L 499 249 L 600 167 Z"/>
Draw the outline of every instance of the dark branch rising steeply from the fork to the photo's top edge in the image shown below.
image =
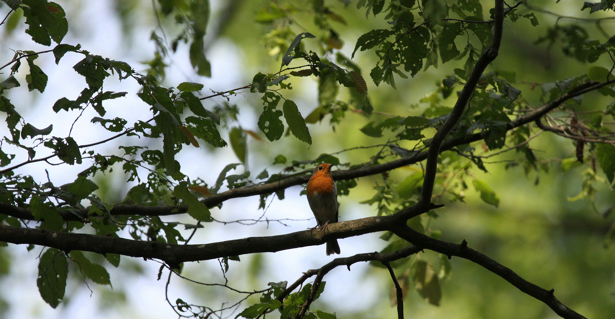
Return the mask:
<path fill-rule="evenodd" d="M 470 100 L 470 97 L 472 97 L 483 71 L 485 71 L 491 61 L 498 57 L 500 43 L 502 42 L 502 26 L 504 25 L 504 0 L 495 0 L 494 15 L 495 21 L 491 44 L 483 51 L 476 61 L 474 69 L 472 69 L 472 74 L 470 74 L 461 93 L 459 93 L 453 111 L 448 114 L 446 121 L 438 129 L 438 132 L 435 133 L 434 137 L 431 139 L 431 143 L 429 143 L 421 199 L 419 199 L 416 205 L 429 205 L 429 203 L 431 203 L 431 195 L 434 192 L 435 172 L 438 166 L 438 156 L 440 155 L 442 142 L 457 122 L 459 122 L 459 119 L 461 119 L 463 111 L 466 109 L 467 102 Z"/>

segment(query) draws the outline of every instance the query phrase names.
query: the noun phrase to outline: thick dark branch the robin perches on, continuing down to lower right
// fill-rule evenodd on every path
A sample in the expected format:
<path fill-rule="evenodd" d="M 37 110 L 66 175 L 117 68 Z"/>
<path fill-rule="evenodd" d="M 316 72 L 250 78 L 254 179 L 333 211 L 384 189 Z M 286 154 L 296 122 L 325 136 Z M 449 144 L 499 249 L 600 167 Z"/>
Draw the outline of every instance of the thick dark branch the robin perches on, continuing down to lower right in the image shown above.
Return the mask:
<path fill-rule="evenodd" d="M 4 225 L 0 225 L 0 241 L 49 246 L 63 251 L 82 250 L 100 254 L 114 253 L 125 256 L 161 259 L 173 267 L 185 261 L 200 261 L 250 253 L 276 252 L 304 246 L 322 245 L 334 238 L 339 239 L 383 230 L 392 230 L 399 237 L 421 248 L 437 251 L 448 256 L 459 256 L 485 267 L 512 283 L 512 285 L 524 293 L 549 305 L 563 318 L 584 318 L 561 304 L 553 295 L 553 291 L 547 291 L 527 282 L 515 274 L 515 272 L 493 259 L 478 253 L 478 251 L 467 248 L 467 244 L 456 245 L 436 240 L 405 226 L 404 222 L 407 216 L 416 216 L 425 212 L 426 210 L 424 209 L 421 211 L 417 207 L 409 207 L 395 215 L 368 217 L 330 224 L 326 229 L 326 234 L 323 229 L 303 230 L 285 235 L 248 237 L 203 245 L 173 245 L 161 242 L 53 232 L 44 229 L 16 228 Z M 343 258 L 338 259 L 343 260 Z M 338 259 L 334 259 L 334 261 Z M 341 262 L 340 264 L 347 263 Z"/>

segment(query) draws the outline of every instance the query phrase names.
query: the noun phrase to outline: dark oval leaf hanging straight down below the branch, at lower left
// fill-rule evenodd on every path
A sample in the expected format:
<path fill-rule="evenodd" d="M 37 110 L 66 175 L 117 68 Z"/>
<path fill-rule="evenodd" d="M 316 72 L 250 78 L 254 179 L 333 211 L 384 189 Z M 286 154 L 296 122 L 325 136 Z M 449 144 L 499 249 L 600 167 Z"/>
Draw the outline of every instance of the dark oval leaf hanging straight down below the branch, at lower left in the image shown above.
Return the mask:
<path fill-rule="evenodd" d="M 39 288 L 42 299 L 52 308 L 64 298 L 66 277 L 68 276 L 68 262 L 62 251 L 49 248 L 41 256 L 38 266 L 36 286 Z"/>

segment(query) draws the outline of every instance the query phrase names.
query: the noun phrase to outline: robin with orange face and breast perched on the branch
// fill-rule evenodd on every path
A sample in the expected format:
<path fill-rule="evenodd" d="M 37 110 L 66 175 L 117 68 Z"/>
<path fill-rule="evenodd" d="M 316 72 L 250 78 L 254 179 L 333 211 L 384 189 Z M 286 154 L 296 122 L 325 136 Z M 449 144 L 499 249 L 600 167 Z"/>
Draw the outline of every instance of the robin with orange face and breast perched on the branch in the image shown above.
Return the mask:
<path fill-rule="evenodd" d="M 306 195 L 318 227 L 327 229 L 329 224 L 338 222 L 338 187 L 331 178 L 330 164 L 322 163 L 314 168 Z M 337 239 L 327 242 L 327 256 L 330 254 L 339 254 Z"/>

